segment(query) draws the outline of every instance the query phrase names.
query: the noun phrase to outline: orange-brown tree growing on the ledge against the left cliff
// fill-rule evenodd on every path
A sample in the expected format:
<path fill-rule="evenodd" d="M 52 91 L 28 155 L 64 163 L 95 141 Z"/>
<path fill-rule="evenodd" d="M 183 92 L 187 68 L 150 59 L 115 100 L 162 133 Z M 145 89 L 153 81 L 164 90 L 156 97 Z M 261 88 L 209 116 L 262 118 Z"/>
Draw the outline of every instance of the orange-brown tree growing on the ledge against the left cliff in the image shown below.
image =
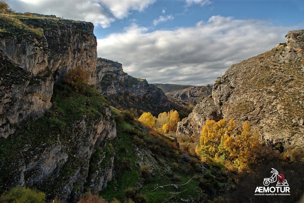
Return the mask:
<path fill-rule="evenodd" d="M 72 85 L 76 92 L 79 92 L 88 83 L 89 74 L 82 68 L 77 67 L 64 74 L 64 81 Z"/>

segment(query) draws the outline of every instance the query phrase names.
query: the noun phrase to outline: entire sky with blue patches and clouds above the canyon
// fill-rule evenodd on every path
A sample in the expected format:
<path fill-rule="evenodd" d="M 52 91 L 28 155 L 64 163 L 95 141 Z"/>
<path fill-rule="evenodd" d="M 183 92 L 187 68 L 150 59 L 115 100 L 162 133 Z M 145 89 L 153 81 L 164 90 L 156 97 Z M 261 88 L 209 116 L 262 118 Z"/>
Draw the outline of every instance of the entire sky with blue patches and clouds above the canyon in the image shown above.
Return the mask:
<path fill-rule="evenodd" d="M 304 29 L 304 0 L 4 0 L 94 23 L 98 57 L 149 83 L 212 84 Z"/>

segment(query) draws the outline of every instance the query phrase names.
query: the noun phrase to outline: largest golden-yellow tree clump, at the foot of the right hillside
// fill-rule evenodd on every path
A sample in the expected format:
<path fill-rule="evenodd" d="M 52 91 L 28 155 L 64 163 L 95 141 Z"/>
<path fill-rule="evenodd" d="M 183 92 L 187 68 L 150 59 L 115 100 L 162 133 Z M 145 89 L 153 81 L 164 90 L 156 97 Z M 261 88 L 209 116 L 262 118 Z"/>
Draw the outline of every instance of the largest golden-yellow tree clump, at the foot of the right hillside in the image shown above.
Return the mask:
<path fill-rule="evenodd" d="M 195 151 L 206 160 L 226 161 L 238 169 L 245 168 L 259 144 L 259 133 L 251 129 L 249 121 L 244 122 L 240 135 L 236 135 L 234 129 L 233 120 L 206 121 L 201 131 L 200 147 Z"/>

